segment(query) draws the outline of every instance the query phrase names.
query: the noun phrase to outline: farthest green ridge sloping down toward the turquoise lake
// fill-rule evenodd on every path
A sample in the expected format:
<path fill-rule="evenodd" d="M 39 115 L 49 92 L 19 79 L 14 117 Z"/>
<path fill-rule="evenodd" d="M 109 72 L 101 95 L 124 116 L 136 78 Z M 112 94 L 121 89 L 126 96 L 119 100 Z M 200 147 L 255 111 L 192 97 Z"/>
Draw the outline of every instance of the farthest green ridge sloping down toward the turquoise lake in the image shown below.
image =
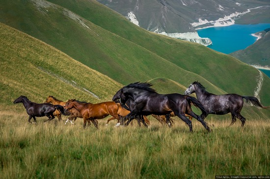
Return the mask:
<path fill-rule="evenodd" d="M 199 74 L 222 90 L 227 92 L 248 93 L 251 95 L 256 88 L 255 81 L 259 72 L 255 68 L 246 66 L 231 56 L 218 53 L 203 45 L 188 43 L 150 33 L 135 24 L 132 24 L 127 21 L 125 17 L 119 16 L 118 13 L 111 11 L 109 8 L 94 0 L 79 0 L 76 2 L 72 0 L 50 1 L 79 14 L 86 20 L 93 22 L 114 34 L 148 49 L 178 67 Z M 148 60 L 148 58 L 144 60 Z M 174 70 L 175 73 L 176 71 L 177 70 Z M 241 73 L 239 73 L 240 71 Z M 164 73 L 165 71 L 163 71 L 163 74 Z M 182 75 L 183 73 L 178 76 L 181 77 Z M 154 76 L 152 78 L 156 77 L 165 76 Z M 172 79 L 172 77 L 166 78 Z M 236 80 L 232 81 L 232 79 Z M 198 80 L 200 81 L 200 79 Z M 186 83 L 181 82 L 181 84 L 188 85 L 190 83 L 189 80 L 186 81 Z M 239 85 L 240 82 L 243 84 Z M 245 86 L 245 88 L 243 88 L 243 86 Z M 267 95 L 266 98 L 269 97 L 270 96 Z"/>

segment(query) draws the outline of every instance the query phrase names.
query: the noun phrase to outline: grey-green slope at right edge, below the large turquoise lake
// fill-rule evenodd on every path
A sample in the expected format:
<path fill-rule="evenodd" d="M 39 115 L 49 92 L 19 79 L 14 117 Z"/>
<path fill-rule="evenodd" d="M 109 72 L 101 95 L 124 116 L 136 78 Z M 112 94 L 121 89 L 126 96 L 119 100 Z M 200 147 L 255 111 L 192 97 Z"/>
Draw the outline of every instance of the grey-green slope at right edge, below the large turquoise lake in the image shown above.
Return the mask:
<path fill-rule="evenodd" d="M 230 55 L 244 63 L 255 66 L 270 67 L 270 28 L 254 34 L 258 40 L 243 50 L 238 50 Z"/>

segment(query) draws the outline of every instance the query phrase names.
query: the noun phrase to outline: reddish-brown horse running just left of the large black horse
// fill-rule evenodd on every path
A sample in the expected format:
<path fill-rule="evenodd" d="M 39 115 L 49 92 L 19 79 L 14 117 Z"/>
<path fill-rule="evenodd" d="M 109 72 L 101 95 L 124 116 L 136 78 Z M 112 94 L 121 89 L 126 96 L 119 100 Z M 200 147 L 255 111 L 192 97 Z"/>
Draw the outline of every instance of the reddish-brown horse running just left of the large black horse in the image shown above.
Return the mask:
<path fill-rule="evenodd" d="M 118 115 L 118 106 L 113 101 L 92 104 L 70 99 L 63 105 L 63 107 L 66 110 L 75 108 L 81 113 L 83 118 L 83 128 L 85 128 L 87 120 L 90 120 L 98 129 L 98 124 L 95 119 L 103 119 L 108 115 L 111 115 L 118 120 L 120 119 Z"/>

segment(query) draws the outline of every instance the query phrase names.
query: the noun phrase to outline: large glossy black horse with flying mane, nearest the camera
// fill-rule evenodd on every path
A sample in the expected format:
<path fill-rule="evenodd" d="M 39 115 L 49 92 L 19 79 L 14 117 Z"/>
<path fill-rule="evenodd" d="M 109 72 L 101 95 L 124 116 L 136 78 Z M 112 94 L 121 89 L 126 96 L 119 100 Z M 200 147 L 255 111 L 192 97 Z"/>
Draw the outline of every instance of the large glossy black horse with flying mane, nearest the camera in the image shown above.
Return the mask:
<path fill-rule="evenodd" d="M 189 131 L 192 132 L 191 121 L 185 116 L 185 113 L 187 113 L 200 121 L 208 131 L 211 131 L 207 123 L 191 110 L 191 104 L 193 104 L 202 112 L 205 112 L 202 104 L 196 98 L 178 93 L 159 94 L 156 90 L 150 88 L 151 86 L 150 83 L 136 82 L 118 90 L 113 96 L 113 101 L 120 99 L 121 106 L 131 111 L 126 116 L 126 118 L 129 118 L 128 124 L 136 116 L 156 114 L 166 115 L 166 123 L 170 126 L 169 114 L 174 112 L 175 115 L 186 122 Z M 128 99 L 132 101 L 129 108 L 126 106 Z"/>

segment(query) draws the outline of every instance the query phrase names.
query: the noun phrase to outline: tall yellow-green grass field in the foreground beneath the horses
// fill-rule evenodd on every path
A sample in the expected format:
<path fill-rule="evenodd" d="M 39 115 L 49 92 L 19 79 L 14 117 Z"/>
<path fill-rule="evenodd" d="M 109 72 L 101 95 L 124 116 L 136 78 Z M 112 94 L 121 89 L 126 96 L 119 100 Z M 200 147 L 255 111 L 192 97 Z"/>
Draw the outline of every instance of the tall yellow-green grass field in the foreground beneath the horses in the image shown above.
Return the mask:
<path fill-rule="evenodd" d="M 207 133 L 192 120 L 193 133 L 175 118 L 170 129 L 150 118 L 137 124 L 82 129 L 63 122 L 27 122 L 27 114 L 0 112 L 0 178 L 213 179 L 215 175 L 270 175 L 269 119 L 237 121 L 217 116 Z"/>

